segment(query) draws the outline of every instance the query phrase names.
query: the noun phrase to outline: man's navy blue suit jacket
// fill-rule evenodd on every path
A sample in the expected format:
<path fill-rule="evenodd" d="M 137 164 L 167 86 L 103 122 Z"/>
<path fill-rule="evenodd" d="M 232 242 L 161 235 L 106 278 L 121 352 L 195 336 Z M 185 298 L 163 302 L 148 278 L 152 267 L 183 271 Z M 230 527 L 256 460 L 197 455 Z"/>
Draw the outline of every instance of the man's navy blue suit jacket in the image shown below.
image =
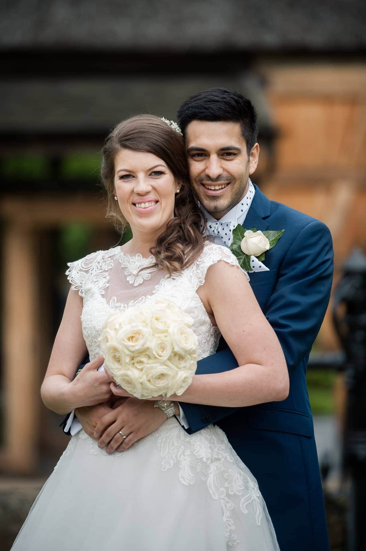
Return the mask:
<path fill-rule="evenodd" d="M 211 423 L 225 431 L 258 480 L 281 551 L 326 551 L 328 531 L 306 366 L 329 302 L 332 240 L 319 220 L 269 201 L 254 187 L 245 228 L 285 230 L 265 253 L 269 272 L 251 273 L 250 283 L 284 350 L 290 393 L 282 402 L 244 408 L 181 406 L 190 424 L 188 433 Z M 197 374 L 236 367 L 234 355 L 222 340 L 219 352 L 198 362 Z"/>

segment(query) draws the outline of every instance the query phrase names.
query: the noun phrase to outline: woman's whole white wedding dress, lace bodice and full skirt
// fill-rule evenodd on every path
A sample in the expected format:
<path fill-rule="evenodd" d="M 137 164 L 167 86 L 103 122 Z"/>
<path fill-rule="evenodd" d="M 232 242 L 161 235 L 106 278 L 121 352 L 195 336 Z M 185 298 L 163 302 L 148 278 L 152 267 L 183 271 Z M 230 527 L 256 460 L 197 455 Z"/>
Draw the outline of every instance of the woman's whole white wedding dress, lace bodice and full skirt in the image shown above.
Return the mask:
<path fill-rule="evenodd" d="M 238 265 L 223 246 L 205 245 L 198 260 L 168 277 L 153 257 L 120 247 L 71 262 L 66 272 L 84 299 L 81 324 L 90 358 L 100 353 L 103 322 L 157 298 L 194 320 L 198 359 L 214 354 L 220 333 L 196 293 L 209 266 Z M 240 269 L 240 268 L 239 268 Z M 218 282 L 221 284 L 221 282 Z M 256 479 L 225 433 L 210 425 L 188 435 L 175 417 L 127 451 L 108 455 L 80 430 L 71 437 L 32 505 L 14 551 L 274 551 L 279 550 Z"/>

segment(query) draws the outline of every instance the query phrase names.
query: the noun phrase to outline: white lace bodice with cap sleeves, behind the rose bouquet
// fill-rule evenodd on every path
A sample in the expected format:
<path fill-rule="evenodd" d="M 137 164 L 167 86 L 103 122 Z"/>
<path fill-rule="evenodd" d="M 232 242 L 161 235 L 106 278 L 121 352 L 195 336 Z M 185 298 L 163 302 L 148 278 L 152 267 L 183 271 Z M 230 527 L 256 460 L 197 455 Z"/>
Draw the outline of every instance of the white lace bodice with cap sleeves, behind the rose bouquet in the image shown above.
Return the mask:
<path fill-rule="evenodd" d="M 130 256 L 120 247 L 93 252 L 70 262 L 66 275 L 71 288 L 78 290 L 83 298 L 81 325 L 90 359 L 101 353 L 98 337 L 104 321 L 113 311 L 156 299 L 169 299 L 192 316 L 192 329 L 198 339 L 198 359 L 213 354 L 220 332 L 212 325 L 196 291 L 204 283 L 207 269 L 220 260 L 239 267 L 229 249 L 210 242 L 190 267 L 171 277 L 162 269 L 148 268 L 154 263 L 153 256 Z M 147 269 L 138 274 L 145 266 Z"/>

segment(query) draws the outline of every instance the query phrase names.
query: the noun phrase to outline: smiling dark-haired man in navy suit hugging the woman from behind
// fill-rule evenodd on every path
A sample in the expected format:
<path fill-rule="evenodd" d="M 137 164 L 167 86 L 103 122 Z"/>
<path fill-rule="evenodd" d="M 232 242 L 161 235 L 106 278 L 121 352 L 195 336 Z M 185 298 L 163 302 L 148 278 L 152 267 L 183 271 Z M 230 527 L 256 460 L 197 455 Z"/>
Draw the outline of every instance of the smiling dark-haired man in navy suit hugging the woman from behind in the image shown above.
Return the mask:
<path fill-rule="evenodd" d="M 290 393 L 282 402 L 246 408 L 181 403 L 175 404 L 175 411 L 189 433 L 211 423 L 225 431 L 258 480 L 281 551 L 326 551 L 328 533 L 306 366 L 330 296 L 333 252 L 329 230 L 314 218 L 270 201 L 251 183 L 259 145 L 256 112 L 248 99 L 234 90 L 204 90 L 182 102 L 178 122 L 191 184 L 215 242 L 229 246 L 237 224 L 247 230 L 285 230 L 276 246 L 265 253 L 265 266 L 252 256 L 254 271 L 249 276 L 284 351 Z M 198 362 L 197 374 L 237 367 L 225 342 L 220 342 L 219 350 Z M 156 430 L 167 418 L 152 404 L 130 398 L 118 406 L 127 417 L 138 418 L 138 437 Z M 98 404 L 79 408 L 76 415 L 94 437 L 96 424 L 109 409 Z M 73 433 L 77 423 L 74 420 Z M 123 449 L 121 444 L 118 450 Z"/>

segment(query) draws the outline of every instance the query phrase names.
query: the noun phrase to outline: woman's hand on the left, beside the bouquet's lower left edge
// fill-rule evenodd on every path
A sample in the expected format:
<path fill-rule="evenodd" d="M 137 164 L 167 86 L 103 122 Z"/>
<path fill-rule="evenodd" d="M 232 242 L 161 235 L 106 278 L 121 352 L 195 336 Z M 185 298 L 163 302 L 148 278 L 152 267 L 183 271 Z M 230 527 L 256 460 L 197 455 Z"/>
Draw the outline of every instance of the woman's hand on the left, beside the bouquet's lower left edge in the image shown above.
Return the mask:
<path fill-rule="evenodd" d="M 70 383 L 69 393 L 76 407 L 94 406 L 106 402 L 112 396 L 108 375 L 97 371 L 103 361 L 103 356 L 90 361 Z"/>

